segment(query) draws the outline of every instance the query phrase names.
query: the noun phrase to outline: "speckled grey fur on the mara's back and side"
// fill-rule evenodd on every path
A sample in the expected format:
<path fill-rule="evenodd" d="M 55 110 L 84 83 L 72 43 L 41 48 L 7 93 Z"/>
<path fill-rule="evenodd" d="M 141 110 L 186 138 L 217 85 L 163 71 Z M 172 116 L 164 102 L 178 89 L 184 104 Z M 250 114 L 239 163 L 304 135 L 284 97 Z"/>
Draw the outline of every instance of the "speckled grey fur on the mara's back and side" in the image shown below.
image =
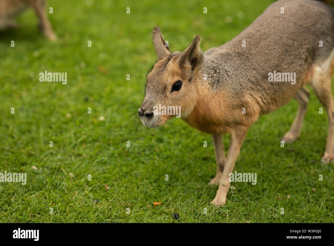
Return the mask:
<path fill-rule="evenodd" d="M 241 47 L 243 40 L 246 47 Z M 201 72 L 214 91 L 222 89 L 235 97 L 256 91 L 262 95 L 258 101 L 262 106 L 283 105 L 302 86 L 301 78 L 310 66 L 328 58 L 333 48 L 332 8 L 313 0 L 280 0 L 232 40 L 207 50 Z M 274 70 L 295 72 L 296 84 L 268 82 L 268 73 Z M 276 101 L 278 96 L 281 99 Z"/>

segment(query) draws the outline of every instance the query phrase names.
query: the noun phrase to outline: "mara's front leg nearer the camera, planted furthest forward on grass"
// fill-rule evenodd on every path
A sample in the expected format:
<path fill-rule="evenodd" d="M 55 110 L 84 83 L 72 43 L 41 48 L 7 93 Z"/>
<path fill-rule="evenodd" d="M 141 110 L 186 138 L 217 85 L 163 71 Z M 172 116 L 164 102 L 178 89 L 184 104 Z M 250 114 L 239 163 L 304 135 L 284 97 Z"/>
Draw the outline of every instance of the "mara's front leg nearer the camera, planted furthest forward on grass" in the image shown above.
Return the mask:
<path fill-rule="evenodd" d="M 229 174 L 233 171 L 235 160 L 240 153 L 240 148 L 246 137 L 247 130 L 248 127 L 238 126 L 230 133 L 231 144 L 228 149 L 227 160 L 219 180 L 216 197 L 211 201 L 211 203 L 215 206 L 220 206 L 226 203 L 226 195 L 230 187 Z"/>

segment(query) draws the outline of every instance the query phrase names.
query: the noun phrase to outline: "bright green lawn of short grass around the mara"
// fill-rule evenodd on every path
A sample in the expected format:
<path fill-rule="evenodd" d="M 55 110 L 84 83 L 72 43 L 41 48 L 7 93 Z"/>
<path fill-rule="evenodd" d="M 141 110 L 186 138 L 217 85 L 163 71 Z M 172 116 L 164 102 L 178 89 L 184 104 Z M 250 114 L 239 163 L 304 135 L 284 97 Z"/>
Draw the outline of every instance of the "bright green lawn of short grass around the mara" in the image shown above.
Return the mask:
<path fill-rule="evenodd" d="M 94 1 L 87 6 L 67 1 L 65 6 L 50 0 L 55 43 L 39 33 L 31 9 L 20 15 L 19 29 L 0 34 L 0 172 L 25 172 L 27 184 L 0 183 L 0 222 L 333 222 L 333 163 L 320 163 L 327 115 L 319 114 L 313 93 L 301 137 L 285 148 L 280 140 L 294 119 L 296 101 L 251 127 L 234 170 L 256 172 L 257 185 L 232 184 L 234 193 L 219 208 L 209 205 L 217 190 L 207 185 L 216 170 L 210 135 L 182 123 L 187 134 L 177 128 L 182 146 L 172 129 L 167 137 L 139 126 L 134 136 L 134 128 L 125 126 L 131 112 L 120 110 L 138 103 L 138 96 L 143 99 L 142 71 L 156 59 L 155 25 L 172 51 L 184 50 L 196 34 L 206 51 L 240 33 L 271 2 Z M 239 11 L 244 18 L 237 17 Z M 67 84 L 39 82 L 44 70 L 67 72 Z M 223 137 L 227 152 L 229 136 Z M 173 213 L 179 214 L 177 221 Z"/>

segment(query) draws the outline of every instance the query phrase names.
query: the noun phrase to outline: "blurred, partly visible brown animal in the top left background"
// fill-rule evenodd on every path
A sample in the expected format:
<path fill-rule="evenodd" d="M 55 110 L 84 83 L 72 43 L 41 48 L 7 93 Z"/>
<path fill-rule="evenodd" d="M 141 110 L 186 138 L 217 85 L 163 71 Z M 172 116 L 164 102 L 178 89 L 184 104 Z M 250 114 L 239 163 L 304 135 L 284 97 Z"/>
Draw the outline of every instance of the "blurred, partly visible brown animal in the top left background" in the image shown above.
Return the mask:
<path fill-rule="evenodd" d="M 52 25 L 48 18 L 46 9 L 46 0 L 0 0 L 0 31 L 18 27 L 18 24 L 13 21 L 13 18 L 22 13 L 25 9 L 31 6 L 38 19 L 39 27 L 50 40 L 56 40 L 57 35 L 52 29 Z"/>

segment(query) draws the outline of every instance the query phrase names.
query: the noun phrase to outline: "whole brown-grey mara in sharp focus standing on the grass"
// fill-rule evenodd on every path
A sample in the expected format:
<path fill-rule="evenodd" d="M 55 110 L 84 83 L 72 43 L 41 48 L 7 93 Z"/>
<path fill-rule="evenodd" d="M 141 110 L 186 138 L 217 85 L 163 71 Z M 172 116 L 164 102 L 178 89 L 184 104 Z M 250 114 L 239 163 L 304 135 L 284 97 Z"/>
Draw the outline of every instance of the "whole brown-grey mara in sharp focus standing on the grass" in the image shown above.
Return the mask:
<path fill-rule="evenodd" d="M 171 52 L 159 27 L 153 30 L 153 43 L 157 62 L 147 75 L 138 115 L 146 127 L 181 117 L 212 135 L 217 172 L 210 184 L 218 185 L 211 201 L 214 205 L 225 204 L 229 174 L 249 127 L 260 115 L 295 98 L 299 109 L 283 141 L 299 137 L 309 101 L 306 84 L 328 114 L 328 138 L 321 161 L 334 161 L 334 11 L 326 4 L 274 2 L 239 35 L 204 53 L 199 36 L 184 51 Z M 223 133 L 231 137 L 227 156 Z"/>

